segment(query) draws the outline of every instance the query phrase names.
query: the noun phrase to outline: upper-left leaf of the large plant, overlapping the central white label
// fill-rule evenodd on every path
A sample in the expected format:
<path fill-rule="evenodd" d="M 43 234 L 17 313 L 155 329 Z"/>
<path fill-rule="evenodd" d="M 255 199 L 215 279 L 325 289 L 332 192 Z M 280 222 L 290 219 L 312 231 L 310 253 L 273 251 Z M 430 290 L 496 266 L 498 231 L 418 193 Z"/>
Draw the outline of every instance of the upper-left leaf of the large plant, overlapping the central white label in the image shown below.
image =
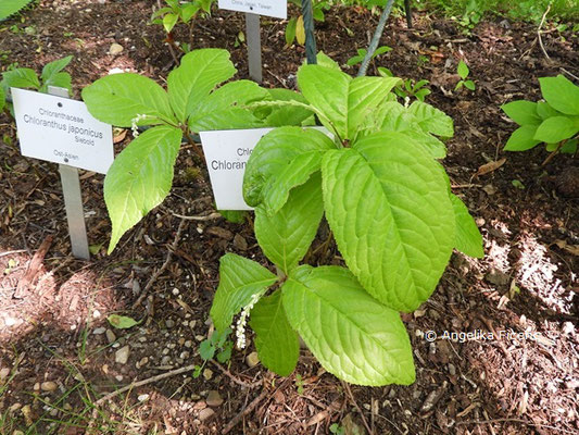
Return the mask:
<path fill-rule="evenodd" d="M 279 210 L 289 190 L 303 184 L 319 169 L 331 139 L 315 128 L 275 128 L 257 142 L 246 167 L 243 197 L 255 207 L 265 200 L 272 212 Z"/>

